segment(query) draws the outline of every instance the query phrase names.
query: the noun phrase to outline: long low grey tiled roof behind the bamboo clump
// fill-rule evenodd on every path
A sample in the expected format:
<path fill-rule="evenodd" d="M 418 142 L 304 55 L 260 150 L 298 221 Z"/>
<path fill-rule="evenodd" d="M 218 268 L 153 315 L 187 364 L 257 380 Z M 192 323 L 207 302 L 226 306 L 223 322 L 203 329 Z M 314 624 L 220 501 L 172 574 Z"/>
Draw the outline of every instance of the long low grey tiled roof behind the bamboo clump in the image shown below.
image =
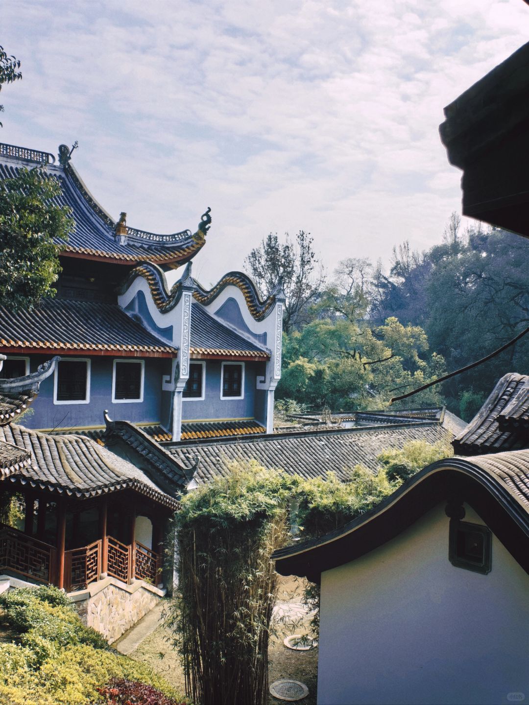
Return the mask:
<path fill-rule="evenodd" d="M 322 477 L 332 470 L 347 479 L 347 470 L 358 463 L 377 470 L 377 455 L 388 448 L 402 448 L 406 441 L 435 443 L 453 434 L 439 422 L 418 422 L 390 427 L 363 427 L 331 431 L 274 434 L 257 438 L 184 441 L 166 444 L 166 450 L 183 465 L 198 458 L 195 480 L 208 480 L 229 474 L 231 460 L 257 460 L 265 467 L 276 467 L 302 477 Z"/>

